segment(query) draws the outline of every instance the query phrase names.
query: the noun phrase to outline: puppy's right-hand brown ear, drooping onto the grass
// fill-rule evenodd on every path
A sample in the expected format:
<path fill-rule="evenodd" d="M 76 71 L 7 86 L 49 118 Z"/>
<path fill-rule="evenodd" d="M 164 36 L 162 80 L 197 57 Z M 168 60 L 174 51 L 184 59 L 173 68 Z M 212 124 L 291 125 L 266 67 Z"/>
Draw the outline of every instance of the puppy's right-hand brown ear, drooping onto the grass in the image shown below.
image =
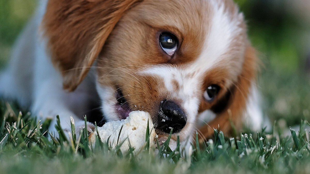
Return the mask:
<path fill-rule="evenodd" d="M 199 136 L 199 142 L 213 136 L 213 128 L 219 128 L 224 134 L 229 135 L 232 131 L 232 124 L 240 129 L 242 126 L 242 114 L 246 109 L 246 102 L 249 96 L 250 87 L 255 83 L 258 70 L 258 59 L 255 49 L 248 47 L 245 53 L 245 60 L 242 66 L 241 75 L 238 78 L 237 86 L 230 90 L 228 106 L 217 113 L 216 118 L 202 126 Z"/>

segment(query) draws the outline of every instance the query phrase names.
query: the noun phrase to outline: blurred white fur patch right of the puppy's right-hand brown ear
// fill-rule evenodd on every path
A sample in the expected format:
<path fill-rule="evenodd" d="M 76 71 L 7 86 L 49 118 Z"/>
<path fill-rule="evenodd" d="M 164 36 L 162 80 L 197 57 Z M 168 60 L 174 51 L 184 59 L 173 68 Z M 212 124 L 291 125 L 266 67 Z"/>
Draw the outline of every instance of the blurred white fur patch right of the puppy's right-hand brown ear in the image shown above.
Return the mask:
<path fill-rule="evenodd" d="M 266 115 L 262 111 L 262 98 L 257 85 L 252 83 L 249 96 L 246 102 L 246 110 L 244 112 L 244 125 L 254 131 L 260 131 L 262 128 L 271 130 L 271 124 Z"/>

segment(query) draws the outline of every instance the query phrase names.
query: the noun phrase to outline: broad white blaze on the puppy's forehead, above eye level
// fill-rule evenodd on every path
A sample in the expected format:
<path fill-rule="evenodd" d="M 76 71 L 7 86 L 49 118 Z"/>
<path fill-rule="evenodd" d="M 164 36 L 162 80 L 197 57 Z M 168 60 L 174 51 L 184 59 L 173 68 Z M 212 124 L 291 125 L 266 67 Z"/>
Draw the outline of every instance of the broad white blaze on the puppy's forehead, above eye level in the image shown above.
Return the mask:
<path fill-rule="evenodd" d="M 225 58 L 225 62 L 238 61 L 240 67 L 237 69 L 240 69 L 243 56 L 237 56 L 239 60 L 232 60 L 232 58 L 235 57 L 233 54 L 242 54 L 244 50 L 232 50 L 230 47 L 233 44 L 232 42 L 244 42 L 244 38 L 238 38 L 243 31 L 243 28 L 241 28 L 243 15 L 238 12 L 238 9 L 234 9 L 233 12 L 228 11 L 228 7 L 225 7 L 223 2 L 217 0 L 210 1 L 210 5 L 211 14 L 209 15 L 211 17 L 209 19 L 211 21 L 206 23 L 208 26 L 206 26 L 205 43 L 201 55 L 193 62 L 194 67 L 192 68 L 205 73 L 215 64 L 222 63 L 222 59 Z"/>

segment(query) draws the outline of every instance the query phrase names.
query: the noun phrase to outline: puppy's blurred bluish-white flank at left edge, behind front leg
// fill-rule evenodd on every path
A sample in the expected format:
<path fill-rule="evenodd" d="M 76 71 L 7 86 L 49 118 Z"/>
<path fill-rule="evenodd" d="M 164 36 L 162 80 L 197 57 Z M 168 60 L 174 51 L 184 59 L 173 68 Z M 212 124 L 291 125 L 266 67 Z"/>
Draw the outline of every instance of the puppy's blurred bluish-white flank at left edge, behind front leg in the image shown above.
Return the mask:
<path fill-rule="evenodd" d="M 0 73 L 0 96 L 17 100 L 24 109 L 32 96 L 36 23 L 36 18 L 29 21 L 12 49 L 8 66 Z"/>

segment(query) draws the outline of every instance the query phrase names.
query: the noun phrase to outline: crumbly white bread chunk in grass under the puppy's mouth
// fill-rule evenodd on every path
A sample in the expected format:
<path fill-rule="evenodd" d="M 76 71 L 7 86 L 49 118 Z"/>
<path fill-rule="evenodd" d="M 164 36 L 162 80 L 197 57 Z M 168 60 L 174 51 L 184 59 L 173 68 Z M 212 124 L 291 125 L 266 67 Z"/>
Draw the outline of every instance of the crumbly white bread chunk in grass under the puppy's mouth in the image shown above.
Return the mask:
<path fill-rule="evenodd" d="M 102 127 L 98 127 L 99 136 L 101 141 L 106 143 L 109 139 L 109 144 L 112 145 L 112 148 L 115 148 L 117 145 L 117 138 L 122 128 L 118 143 L 124 141 L 121 146 L 121 151 L 126 152 L 129 150 L 129 143 L 131 147 L 135 148 L 135 151 L 140 150 L 145 145 L 145 133 L 149 120 L 149 129 L 150 129 L 150 146 L 154 146 L 154 138 L 156 136 L 153 121 L 148 112 L 144 111 L 132 111 L 129 113 L 129 116 L 125 120 L 110 121 L 104 124 Z M 94 131 L 89 135 L 89 142 L 92 146 L 95 146 L 95 141 L 97 137 L 97 132 Z M 128 137 L 128 138 L 127 138 Z"/>

